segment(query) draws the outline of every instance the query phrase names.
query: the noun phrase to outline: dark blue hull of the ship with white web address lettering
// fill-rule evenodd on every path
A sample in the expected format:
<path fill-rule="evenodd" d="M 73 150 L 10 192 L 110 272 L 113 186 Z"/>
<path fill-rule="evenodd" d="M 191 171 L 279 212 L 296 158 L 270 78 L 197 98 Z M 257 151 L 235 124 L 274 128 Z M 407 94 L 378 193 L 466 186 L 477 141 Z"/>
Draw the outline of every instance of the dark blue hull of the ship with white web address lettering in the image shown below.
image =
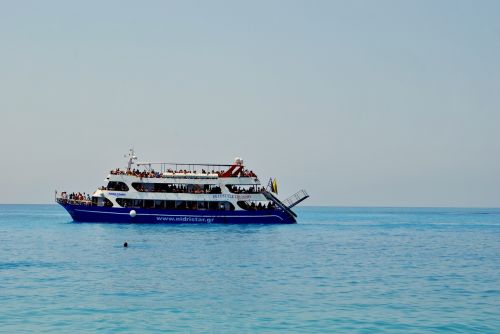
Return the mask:
<path fill-rule="evenodd" d="M 130 224 L 294 224 L 295 218 L 283 211 L 199 211 L 134 209 L 61 204 L 75 222 Z"/>

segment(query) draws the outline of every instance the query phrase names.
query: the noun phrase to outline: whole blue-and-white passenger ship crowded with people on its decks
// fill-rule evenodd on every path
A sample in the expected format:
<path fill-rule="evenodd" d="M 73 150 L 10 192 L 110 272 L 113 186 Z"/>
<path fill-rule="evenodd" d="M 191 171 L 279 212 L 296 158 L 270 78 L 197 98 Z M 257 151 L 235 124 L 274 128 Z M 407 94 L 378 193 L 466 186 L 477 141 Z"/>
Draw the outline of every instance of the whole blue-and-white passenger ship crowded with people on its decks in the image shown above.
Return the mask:
<path fill-rule="evenodd" d="M 280 201 L 275 183 L 263 187 L 240 158 L 230 165 L 135 160 L 130 150 L 127 169 L 112 170 L 92 196 L 56 191 L 56 202 L 76 222 L 292 224 L 292 207 L 309 197 L 300 190 Z"/>

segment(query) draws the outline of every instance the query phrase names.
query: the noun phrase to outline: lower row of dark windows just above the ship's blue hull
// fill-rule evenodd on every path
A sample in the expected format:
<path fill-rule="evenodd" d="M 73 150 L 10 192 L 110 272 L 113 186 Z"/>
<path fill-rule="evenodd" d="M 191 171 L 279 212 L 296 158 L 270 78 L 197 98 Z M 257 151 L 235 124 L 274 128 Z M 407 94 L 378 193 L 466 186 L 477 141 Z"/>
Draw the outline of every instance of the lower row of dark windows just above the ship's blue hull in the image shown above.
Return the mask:
<path fill-rule="evenodd" d="M 227 201 L 173 201 L 117 198 L 116 202 L 124 208 L 234 211 L 234 205 Z"/>

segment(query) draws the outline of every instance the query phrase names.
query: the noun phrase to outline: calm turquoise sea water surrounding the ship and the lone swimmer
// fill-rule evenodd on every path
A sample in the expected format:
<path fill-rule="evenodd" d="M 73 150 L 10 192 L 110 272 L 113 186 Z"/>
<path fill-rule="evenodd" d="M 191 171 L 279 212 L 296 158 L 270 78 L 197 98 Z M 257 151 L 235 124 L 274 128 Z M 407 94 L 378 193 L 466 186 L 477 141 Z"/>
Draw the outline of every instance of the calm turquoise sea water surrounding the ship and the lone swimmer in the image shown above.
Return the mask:
<path fill-rule="evenodd" d="M 0 332 L 500 332 L 500 209 L 297 212 L 139 226 L 0 205 Z"/>

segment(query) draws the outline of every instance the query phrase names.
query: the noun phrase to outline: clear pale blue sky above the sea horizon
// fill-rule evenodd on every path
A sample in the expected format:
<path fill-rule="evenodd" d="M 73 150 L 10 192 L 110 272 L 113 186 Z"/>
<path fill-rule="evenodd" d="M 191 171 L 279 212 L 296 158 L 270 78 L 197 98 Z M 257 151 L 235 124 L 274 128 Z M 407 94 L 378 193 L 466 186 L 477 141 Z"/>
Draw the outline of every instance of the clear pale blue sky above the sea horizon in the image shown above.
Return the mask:
<path fill-rule="evenodd" d="M 1 1 L 0 203 L 241 156 L 308 205 L 500 206 L 499 1 Z"/>

